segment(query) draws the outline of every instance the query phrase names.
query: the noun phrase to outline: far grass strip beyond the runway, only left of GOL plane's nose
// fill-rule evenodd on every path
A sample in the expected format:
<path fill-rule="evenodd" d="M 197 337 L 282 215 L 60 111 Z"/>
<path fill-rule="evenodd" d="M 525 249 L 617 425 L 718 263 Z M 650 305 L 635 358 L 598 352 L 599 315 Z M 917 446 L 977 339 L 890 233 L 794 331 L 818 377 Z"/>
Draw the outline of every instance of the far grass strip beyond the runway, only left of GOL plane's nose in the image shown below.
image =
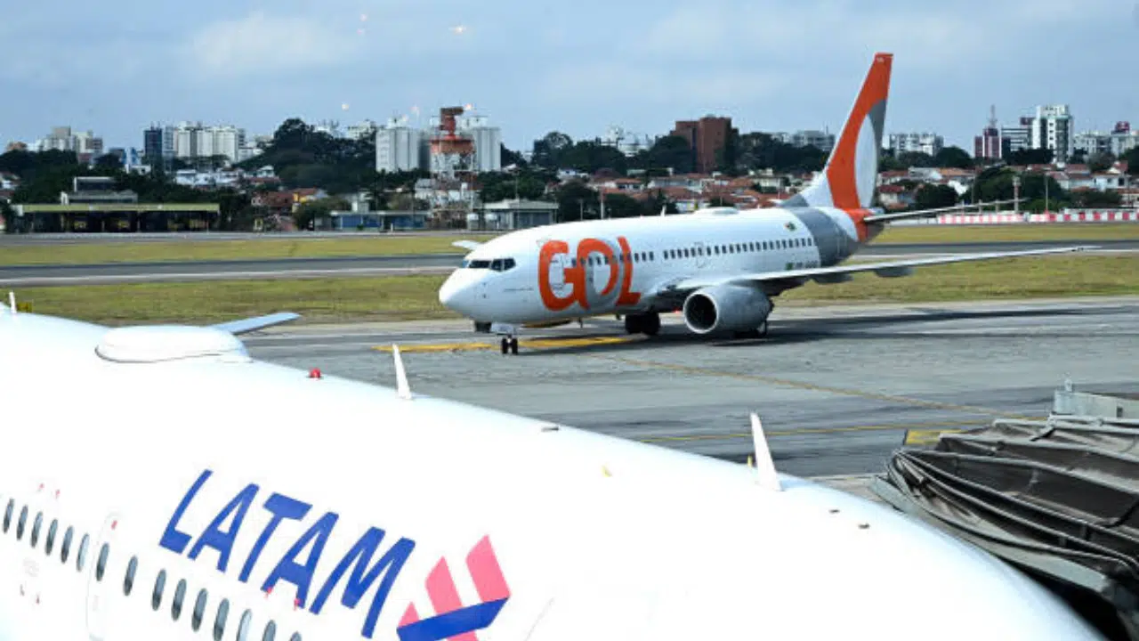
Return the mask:
<path fill-rule="evenodd" d="M 464 236 L 344 238 L 272 238 L 253 241 L 173 241 L 132 243 L 0 245 L 0 265 L 92 265 L 100 262 L 155 262 L 190 260 L 260 260 L 274 258 L 326 258 L 344 255 L 400 255 L 462 253 L 451 243 L 484 241 L 486 234 Z"/>

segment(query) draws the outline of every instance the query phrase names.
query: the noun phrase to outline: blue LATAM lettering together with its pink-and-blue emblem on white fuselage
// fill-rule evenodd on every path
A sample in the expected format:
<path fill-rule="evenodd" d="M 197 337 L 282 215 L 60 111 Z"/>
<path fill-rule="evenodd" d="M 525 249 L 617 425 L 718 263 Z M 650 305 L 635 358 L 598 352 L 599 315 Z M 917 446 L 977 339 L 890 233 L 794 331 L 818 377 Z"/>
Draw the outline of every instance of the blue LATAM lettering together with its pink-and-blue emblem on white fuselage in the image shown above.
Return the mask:
<path fill-rule="evenodd" d="M 337 527 L 337 512 L 314 510 L 311 503 L 265 492 L 256 484 L 236 493 L 232 487 L 207 489 L 212 476 L 212 470 L 204 470 L 194 481 L 174 508 L 158 545 L 212 565 L 229 578 L 259 585 L 267 594 L 289 584 L 294 607 L 316 616 L 326 606 L 355 610 L 366 605 L 360 635 L 371 639 L 416 542 L 375 526 L 362 534 L 351 526 Z M 247 524 L 247 517 L 260 521 L 260 527 Z M 187 528 L 191 522 L 208 525 Z M 262 557 L 267 550 L 278 552 Z M 483 537 L 470 551 L 467 568 L 483 602 L 462 607 L 446 561 L 440 560 L 427 578 L 435 616 L 420 620 L 410 606 L 398 626 L 401 641 L 477 641 L 474 631 L 494 620 L 510 591 L 490 538 Z"/>

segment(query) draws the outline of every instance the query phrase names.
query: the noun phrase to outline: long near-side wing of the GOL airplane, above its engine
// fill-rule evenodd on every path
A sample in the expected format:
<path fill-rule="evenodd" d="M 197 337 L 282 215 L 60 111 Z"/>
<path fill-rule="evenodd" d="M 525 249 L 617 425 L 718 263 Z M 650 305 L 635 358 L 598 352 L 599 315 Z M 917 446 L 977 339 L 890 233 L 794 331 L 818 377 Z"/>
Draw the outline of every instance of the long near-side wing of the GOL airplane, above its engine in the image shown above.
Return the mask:
<path fill-rule="evenodd" d="M 884 262 L 854 262 L 847 265 L 836 265 L 834 267 L 810 267 L 805 269 L 786 269 L 782 271 L 761 271 L 756 274 L 738 274 L 734 276 L 716 277 L 689 277 L 659 287 L 658 295 L 687 293 L 700 287 L 712 285 L 734 284 L 762 284 L 779 281 L 809 281 L 814 279 L 821 283 L 838 282 L 843 276 L 858 274 L 861 271 L 872 271 L 883 277 L 907 276 L 915 267 L 927 265 L 948 265 L 951 262 L 969 262 L 974 260 L 992 260 L 997 258 L 1017 258 L 1022 255 L 1041 255 L 1049 253 L 1071 253 L 1098 249 L 1093 245 L 1079 245 L 1071 248 L 1051 248 L 1044 250 L 1027 250 L 1017 252 L 989 252 L 969 253 L 958 255 L 943 255 L 934 258 L 919 258 L 910 260 L 891 260 Z"/>

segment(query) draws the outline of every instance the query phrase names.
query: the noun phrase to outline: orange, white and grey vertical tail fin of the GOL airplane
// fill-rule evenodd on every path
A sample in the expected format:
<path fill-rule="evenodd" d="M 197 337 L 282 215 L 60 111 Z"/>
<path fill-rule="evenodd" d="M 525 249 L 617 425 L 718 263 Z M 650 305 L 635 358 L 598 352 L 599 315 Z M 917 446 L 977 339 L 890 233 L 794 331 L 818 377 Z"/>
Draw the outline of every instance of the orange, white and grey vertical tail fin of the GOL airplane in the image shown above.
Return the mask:
<path fill-rule="evenodd" d="M 886 122 L 886 98 L 890 95 L 893 60 L 893 54 L 875 54 L 862 90 L 854 100 L 854 107 L 822 173 L 781 206 L 854 210 L 871 205 L 878 182 L 878 154 Z"/>

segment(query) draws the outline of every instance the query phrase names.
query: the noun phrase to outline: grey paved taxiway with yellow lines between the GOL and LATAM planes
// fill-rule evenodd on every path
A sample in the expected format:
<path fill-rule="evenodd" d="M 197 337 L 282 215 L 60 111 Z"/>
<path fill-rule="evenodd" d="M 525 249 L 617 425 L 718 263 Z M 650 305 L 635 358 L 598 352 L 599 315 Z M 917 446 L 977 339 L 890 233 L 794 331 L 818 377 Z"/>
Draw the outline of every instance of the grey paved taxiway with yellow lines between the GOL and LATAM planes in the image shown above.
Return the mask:
<path fill-rule="evenodd" d="M 395 342 L 417 393 L 732 461 L 752 454 L 757 412 L 778 468 L 818 477 L 880 471 L 907 438 L 1046 416 L 1065 378 L 1139 392 L 1137 339 L 1139 297 L 777 309 L 768 338 L 744 341 L 690 335 L 678 317 L 655 339 L 601 320 L 526 336 L 518 356 L 450 320 L 278 327 L 246 344 L 392 387 Z"/>

